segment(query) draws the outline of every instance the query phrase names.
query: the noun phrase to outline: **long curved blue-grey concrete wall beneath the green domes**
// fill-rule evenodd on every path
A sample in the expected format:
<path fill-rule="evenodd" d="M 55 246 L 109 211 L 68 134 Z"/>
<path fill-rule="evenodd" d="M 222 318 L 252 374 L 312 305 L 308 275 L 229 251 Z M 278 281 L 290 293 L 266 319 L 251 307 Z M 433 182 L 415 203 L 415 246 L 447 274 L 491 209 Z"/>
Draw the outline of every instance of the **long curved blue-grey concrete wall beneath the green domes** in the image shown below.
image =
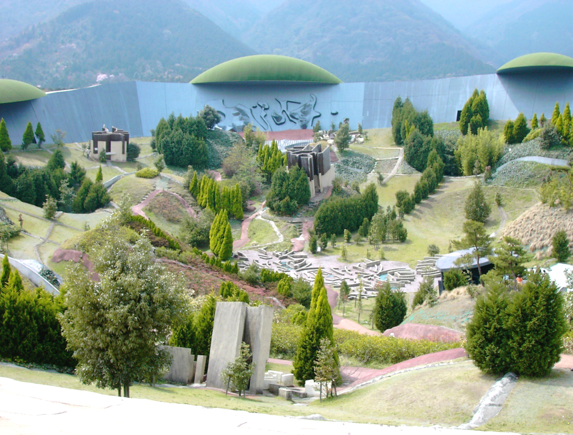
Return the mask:
<path fill-rule="evenodd" d="M 573 74 L 568 72 L 496 74 L 436 80 L 343 83 L 339 85 L 288 83 L 130 83 L 48 93 L 43 98 L 0 105 L 13 144 L 21 142 L 26 124 L 42 123 L 46 138 L 56 129 L 66 142 L 85 142 L 91 132 L 107 127 L 128 130 L 132 137 L 148 136 L 161 117 L 196 115 L 205 104 L 224 115 L 220 126 L 241 129 L 253 123 L 261 130 L 323 127 L 350 118 L 351 126 L 389 127 L 394 100 L 409 97 L 427 109 L 434 122 L 453 122 L 473 89 L 484 89 L 490 117 L 504 120 L 519 112 L 531 118 L 550 116 L 555 102 L 573 102 Z"/>

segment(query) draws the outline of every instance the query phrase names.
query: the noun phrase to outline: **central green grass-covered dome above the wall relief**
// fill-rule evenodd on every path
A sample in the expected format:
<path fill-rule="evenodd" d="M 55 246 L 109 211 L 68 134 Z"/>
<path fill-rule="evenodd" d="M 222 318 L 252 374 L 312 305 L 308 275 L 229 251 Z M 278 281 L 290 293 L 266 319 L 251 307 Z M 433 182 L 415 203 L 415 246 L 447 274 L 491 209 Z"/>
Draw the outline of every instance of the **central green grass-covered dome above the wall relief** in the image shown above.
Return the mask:
<path fill-rule="evenodd" d="M 239 57 L 207 69 L 191 80 L 199 83 L 240 81 L 297 81 L 311 83 L 342 83 L 335 75 L 310 62 L 275 54 Z"/>

